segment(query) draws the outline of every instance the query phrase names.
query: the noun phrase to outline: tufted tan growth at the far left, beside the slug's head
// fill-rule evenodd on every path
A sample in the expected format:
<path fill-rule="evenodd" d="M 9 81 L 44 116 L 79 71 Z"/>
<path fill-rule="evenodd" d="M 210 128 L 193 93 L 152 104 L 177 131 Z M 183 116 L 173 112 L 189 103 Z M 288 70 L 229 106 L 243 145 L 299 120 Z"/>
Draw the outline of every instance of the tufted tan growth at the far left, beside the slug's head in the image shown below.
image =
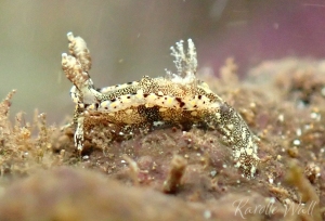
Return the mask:
<path fill-rule="evenodd" d="M 46 125 L 44 114 L 36 112 L 36 119 L 30 125 L 18 113 L 12 126 L 9 110 L 14 93 L 9 93 L 0 103 L 0 177 L 25 176 L 36 168 L 53 167 L 60 161 L 60 156 L 52 154 L 52 138 L 49 135 L 55 129 Z"/>

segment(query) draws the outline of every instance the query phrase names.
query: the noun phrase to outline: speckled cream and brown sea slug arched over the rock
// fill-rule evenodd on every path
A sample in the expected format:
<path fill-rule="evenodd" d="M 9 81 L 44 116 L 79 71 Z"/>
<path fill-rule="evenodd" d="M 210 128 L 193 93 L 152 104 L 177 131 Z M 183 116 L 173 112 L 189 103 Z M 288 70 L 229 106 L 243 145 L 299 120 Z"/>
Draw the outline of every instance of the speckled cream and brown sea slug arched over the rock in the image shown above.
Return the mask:
<path fill-rule="evenodd" d="M 147 125 L 204 125 L 222 134 L 243 176 L 255 176 L 259 162 L 255 136 L 240 115 L 196 78 L 196 50 L 191 39 L 186 52 L 183 41 L 171 47 L 177 74 L 168 72 L 167 77 L 159 78 L 144 76 L 139 81 L 95 89 L 88 74 L 91 58 L 86 42 L 72 32 L 67 37 L 70 55 L 62 54 L 62 67 L 74 83 L 70 90 L 76 103 L 73 123 L 79 151 L 83 148 L 84 135 L 103 121 L 123 129 Z"/>

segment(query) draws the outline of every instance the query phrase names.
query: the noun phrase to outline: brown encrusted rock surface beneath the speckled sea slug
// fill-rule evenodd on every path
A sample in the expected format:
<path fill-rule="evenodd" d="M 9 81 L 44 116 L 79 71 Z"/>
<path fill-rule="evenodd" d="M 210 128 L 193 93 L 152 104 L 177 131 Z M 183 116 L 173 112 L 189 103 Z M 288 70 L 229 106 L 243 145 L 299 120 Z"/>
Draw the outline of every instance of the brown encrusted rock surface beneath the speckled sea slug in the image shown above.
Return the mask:
<path fill-rule="evenodd" d="M 220 132 L 197 127 L 142 130 L 126 140 L 120 127 L 113 132 L 103 123 L 87 134 L 80 156 L 75 130 L 47 126 L 44 114 L 31 123 L 20 114 L 12 123 L 10 93 L 0 103 L 0 220 L 322 220 L 324 67 L 265 62 L 239 81 L 227 60 L 221 78 L 203 77 L 261 139 L 251 180 L 233 167 Z"/>

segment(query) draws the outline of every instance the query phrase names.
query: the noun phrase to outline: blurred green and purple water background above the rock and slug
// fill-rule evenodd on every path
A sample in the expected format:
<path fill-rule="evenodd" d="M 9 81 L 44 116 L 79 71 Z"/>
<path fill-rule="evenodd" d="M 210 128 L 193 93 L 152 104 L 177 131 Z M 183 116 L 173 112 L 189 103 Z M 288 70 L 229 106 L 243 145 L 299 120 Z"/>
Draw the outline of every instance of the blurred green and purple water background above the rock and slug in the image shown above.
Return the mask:
<path fill-rule="evenodd" d="M 229 56 L 248 68 L 264 60 L 325 56 L 324 0 L 42 0 L 0 1 L 0 100 L 16 89 L 11 118 L 72 116 L 72 83 L 61 69 L 66 34 L 91 51 L 96 87 L 174 70 L 169 48 L 192 38 L 199 67 L 218 76 Z"/>

